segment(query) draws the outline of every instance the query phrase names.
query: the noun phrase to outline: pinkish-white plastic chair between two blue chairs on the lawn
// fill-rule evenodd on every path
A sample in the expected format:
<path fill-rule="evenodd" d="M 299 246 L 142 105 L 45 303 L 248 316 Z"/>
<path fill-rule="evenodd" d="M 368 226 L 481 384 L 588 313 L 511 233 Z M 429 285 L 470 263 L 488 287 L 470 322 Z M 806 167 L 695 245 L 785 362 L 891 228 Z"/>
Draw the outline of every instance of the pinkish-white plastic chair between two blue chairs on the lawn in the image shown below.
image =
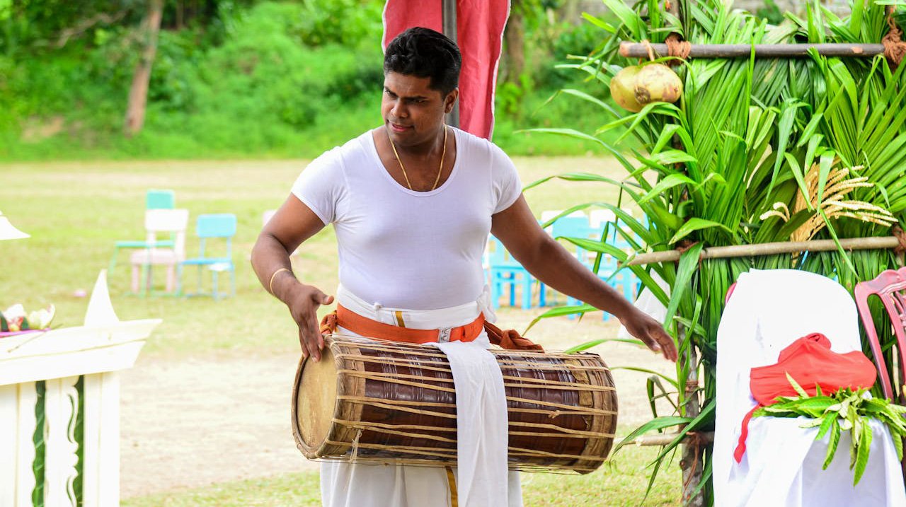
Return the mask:
<path fill-rule="evenodd" d="M 149 209 L 145 212 L 147 244 L 156 244 L 158 234 L 172 234 L 173 246 L 150 246 L 130 255 L 132 264 L 132 292 L 144 294 L 151 291 L 152 267 L 167 266 L 167 292 L 177 288 L 179 263 L 186 259 L 186 227 L 188 209 Z M 145 271 L 145 283 L 140 289 L 140 272 Z"/>

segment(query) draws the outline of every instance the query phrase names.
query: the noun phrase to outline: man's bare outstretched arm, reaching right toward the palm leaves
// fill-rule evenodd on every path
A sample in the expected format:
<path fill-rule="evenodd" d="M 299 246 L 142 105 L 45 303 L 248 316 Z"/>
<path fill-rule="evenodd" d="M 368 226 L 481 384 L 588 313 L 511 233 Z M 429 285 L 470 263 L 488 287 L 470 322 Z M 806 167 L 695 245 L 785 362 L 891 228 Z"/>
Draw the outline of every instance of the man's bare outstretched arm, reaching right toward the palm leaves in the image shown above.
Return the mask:
<path fill-rule="evenodd" d="M 635 308 L 545 233 L 525 197 L 519 196 L 513 206 L 492 217 L 491 233 L 535 278 L 558 292 L 612 313 L 649 349 L 661 351 L 666 359 L 677 359 L 676 344 L 660 322 Z"/>

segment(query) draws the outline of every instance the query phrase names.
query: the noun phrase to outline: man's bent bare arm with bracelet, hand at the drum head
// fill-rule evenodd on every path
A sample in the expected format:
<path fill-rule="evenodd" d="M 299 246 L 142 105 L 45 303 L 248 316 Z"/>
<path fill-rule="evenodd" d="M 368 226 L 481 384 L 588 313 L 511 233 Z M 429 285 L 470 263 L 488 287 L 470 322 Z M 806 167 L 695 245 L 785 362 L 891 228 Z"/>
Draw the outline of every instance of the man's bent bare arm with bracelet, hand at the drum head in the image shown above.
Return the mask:
<path fill-rule="evenodd" d="M 302 355 L 311 355 L 314 360 L 321 359 L 324 346 L 318 326 L 318 307 L 332 303 L 333 296 L 296 280 L 289 254 L 323 227 L 318 215 L 295 196 L 289 196 L 258 234 L 252 248 L 252 268 L 258 280 L 289 308 L 299 326 Z"/>

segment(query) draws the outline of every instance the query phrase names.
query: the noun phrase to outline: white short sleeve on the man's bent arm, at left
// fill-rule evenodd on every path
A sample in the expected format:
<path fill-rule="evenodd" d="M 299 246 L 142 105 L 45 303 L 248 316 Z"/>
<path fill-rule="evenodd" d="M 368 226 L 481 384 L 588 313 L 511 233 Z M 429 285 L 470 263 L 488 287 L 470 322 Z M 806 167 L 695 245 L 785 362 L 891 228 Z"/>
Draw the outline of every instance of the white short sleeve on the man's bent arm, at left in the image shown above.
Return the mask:
<path fill-rule="evenodd" d="M 342 195 L 342 158 L 333 148 L 315 158 L 293 184 L 293 195 L 328 225 L 336 220 L 337 203 Z"/>

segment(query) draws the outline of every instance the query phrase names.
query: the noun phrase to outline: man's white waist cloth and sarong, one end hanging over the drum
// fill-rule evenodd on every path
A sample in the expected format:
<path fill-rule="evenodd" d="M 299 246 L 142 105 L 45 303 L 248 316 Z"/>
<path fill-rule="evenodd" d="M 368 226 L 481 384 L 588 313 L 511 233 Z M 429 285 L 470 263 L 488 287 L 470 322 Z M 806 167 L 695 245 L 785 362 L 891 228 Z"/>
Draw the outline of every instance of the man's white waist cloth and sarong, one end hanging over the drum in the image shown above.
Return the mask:
<path fill-rule="evenodd" d="M 487 291 L 486 291 L 487 292 Z M 461 326 L 486 311 L 482 300 L 456 307 L 409 311 L 362 301 L 340 287 L 337 302 L 363 317 L 406 327 L 442 329 Z M 345 334 L 355 335 L 340 328 Z M 519 474 L 506 468 L 508 440 L 503 378 L 484 330 L 475 341 L 434 344 L 446 355 L 457 390 L 457 454 L 454 469 L 460 507 L 521 507 Z M 321 498 L 325 507 L 448 507 L 447 471 L 411 465 L 346 464 L 321 466 Z"/>

